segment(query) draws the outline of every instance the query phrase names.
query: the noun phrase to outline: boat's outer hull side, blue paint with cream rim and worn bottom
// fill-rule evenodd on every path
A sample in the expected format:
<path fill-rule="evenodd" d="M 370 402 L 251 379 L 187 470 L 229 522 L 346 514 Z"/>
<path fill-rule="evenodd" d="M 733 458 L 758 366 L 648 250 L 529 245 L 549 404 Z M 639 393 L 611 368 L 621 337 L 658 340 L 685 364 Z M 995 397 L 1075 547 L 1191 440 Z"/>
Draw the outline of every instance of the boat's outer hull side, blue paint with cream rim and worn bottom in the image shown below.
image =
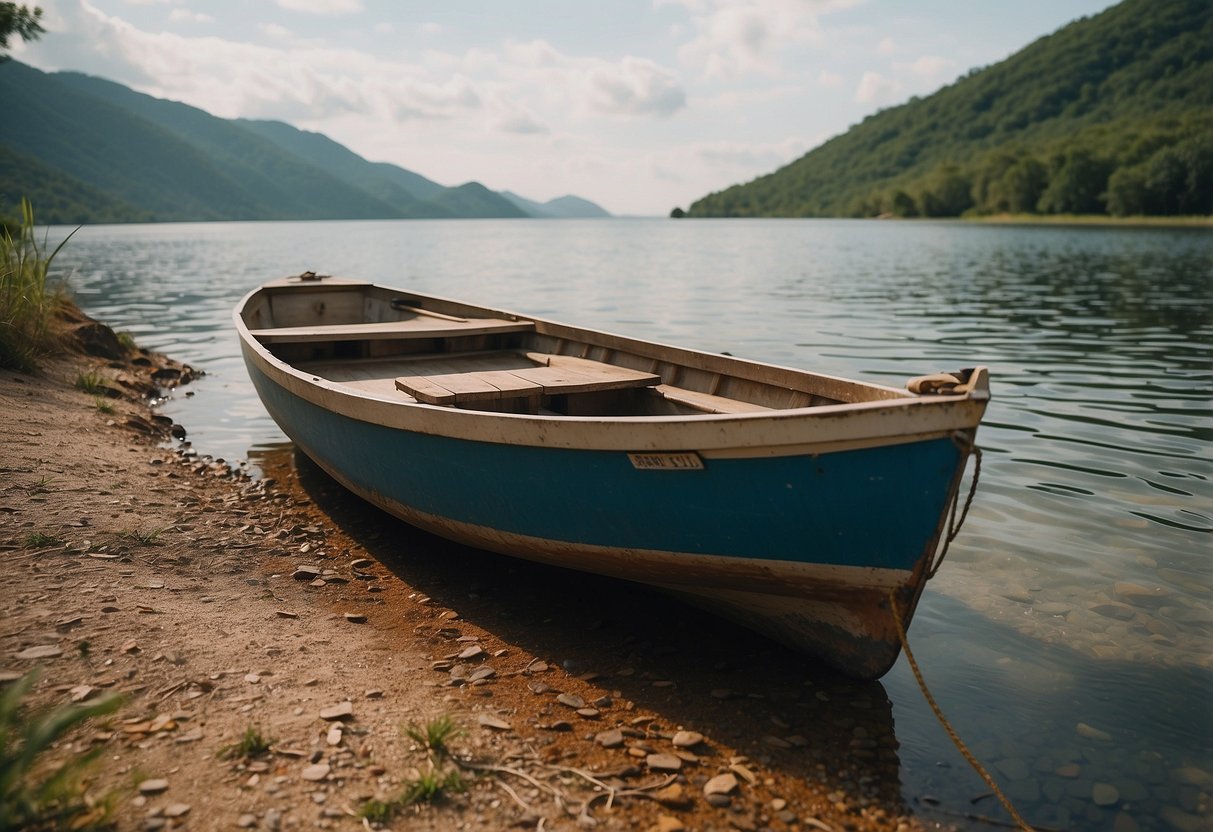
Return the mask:
<path fill-rule="evenodd" d="M 256 294 L 245 303 L 262 308 Z M 896 659 L 888 593 L 909 623 L 959 485 L 956 438 L 972 439 L 989 395 L 981 370 L 964 395 L 879 388 L 875 400 L 689 417 L 488 414 L 309 376 L 250 337 L 239 309 L 237 327 L 270 415 L 364 498 L 473 546 L 683 594 L 865 678 Z M 701 467 L 637 466 L 644 455 Z"/>

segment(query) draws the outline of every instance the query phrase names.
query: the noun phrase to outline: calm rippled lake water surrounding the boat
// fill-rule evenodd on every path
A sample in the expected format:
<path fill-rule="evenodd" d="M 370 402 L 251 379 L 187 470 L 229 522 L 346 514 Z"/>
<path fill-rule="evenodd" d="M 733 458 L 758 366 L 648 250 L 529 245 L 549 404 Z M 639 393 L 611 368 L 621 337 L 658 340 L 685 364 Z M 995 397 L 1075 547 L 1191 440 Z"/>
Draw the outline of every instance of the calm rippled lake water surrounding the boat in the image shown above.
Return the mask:
<path fill-rule="evenodd" d="M 166 411 L 229 461 L 283 440 L 230 309 L 304 269 L 896 386 L 989 364 L 979 496 L 911 632 L 928 680 L 1033 822 L 1213 828 L 1209 230 L 165 224 L 85 228 L 59 263 L 89 312 L 209 374 Z M 904 660 L 883 685 L 907 799 L 973 811 Z"/>

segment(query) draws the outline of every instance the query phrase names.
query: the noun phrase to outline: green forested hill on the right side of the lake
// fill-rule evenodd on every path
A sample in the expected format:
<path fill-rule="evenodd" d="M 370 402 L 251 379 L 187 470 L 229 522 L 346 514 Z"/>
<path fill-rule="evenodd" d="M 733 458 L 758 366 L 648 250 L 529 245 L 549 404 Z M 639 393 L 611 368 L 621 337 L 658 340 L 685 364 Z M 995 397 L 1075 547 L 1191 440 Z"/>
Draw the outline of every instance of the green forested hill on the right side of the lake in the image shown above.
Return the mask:
<path fill-rule="evenodd" d="M 687 216 L 1004 212 L 1213 213 L 1213 2 L 1124 0 Z"/>

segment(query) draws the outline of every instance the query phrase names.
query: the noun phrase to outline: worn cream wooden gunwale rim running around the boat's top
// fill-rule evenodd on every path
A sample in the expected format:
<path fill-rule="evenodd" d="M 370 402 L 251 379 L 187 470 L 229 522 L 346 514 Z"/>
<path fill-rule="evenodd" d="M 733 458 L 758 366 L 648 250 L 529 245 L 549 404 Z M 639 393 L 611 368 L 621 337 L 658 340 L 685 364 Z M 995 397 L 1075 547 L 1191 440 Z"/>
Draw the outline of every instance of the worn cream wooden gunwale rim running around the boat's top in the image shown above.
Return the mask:
<path fill-rule="evenodd" d="M 696 450 L 727 455 L 769 455 L 773 452 L 825 452 L 854 446 L 898 444 L 974 429 L 989 400 L 986 367 L 973 370 L 969 389 L 961 394 L 919 397 L 905 389 L 815 374 L 764 361 L 717 355 L 685 347 L 631 338 L 598 330 L 569 326 L 514 312 L 478 307 L 433 295 L 397 290 L 381 284 L 329 278 L 326 284 L 308 287 L 380 289 L 421 301 L 449 304 L 450 308 L 530 320 L 542 335 L 568 338 L 606 349 L 637 349 L 639 354 L 656 352 L 657 360 L 710 372 L 725 372 L 752 380 L 754 370 L 776 371 L 792 377 L 821 381 L 884 393 L 887 398 L 838 404 L 805 405 L 729 414 L 645 415 L 645 416 L 564 416 L 546 414 L 509 414 L 431 405 L 405 393 L 383 395 L 330 381 L 285 361 L 261 343 L 244 321 L 244 312 L 262 292 L 290 291 L 300 283 L 274 281 L 257 286 L 241 298 L 233 312 L 241 349 L 255 359 L 261 371 L 292 394 L 351 418 L 385 427 L 446 435 L 457 439 L 501 441 L 519 445 L 581 450 L 678 451 Z M 289 289 L 287 289 L 289 287 Z M 545 331 L 546 330 L 546 331 Z M 706 359 L 687 361 L 684 359 Z M 728 369 L 725 369 L 728 367 Z M 748 370 L 748 372 L 746 372 Z M 906 424 L 890 429 L 888 420 L 902 416 Z M 808 428 L 811 424 L 811 428 Z M 756 435 L 756 427 L 768 426 L 767 435 Z M 731 428 L 738 428 L 733 431 Z M 762 449 L 767 449 L 765 452 Z M 781 449 L 781 450 L 773 450 Z M 728 454 L 733 451 L 733 454 Z"/>

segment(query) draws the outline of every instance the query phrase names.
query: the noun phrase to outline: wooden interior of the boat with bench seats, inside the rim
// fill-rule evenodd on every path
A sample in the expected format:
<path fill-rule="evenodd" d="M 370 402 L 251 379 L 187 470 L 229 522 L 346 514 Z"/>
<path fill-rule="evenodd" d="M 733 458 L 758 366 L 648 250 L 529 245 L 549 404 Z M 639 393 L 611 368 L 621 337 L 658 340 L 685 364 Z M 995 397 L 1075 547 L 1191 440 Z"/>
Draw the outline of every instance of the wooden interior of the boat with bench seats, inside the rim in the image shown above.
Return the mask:
<path fill-rule="evenodd" d="M 910 397 L 353 281 L 268 286 L 250 298 L 243 319 L 254 338 L 298 370 L 402 403 L 691 416 Z"/>

